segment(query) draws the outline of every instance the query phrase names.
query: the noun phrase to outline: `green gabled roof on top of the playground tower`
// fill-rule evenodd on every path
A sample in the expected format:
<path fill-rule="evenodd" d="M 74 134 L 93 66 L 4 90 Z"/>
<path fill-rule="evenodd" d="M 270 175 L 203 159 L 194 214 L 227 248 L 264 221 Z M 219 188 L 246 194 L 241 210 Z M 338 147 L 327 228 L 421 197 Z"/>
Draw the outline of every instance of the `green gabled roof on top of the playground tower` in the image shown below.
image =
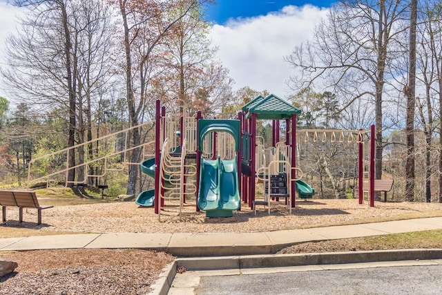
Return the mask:
<path fill-rule="evenodd" d="M 253 101 L 256 101 L 253 105 L 249 105 L 247 117 L 254 113 L 256 118 L 260 120 L 285 120 L 290 119 L 291 115 L 301 113 L 299 108 L 292 106 L 276 95 L 271 94 L 260 100 L 257 98 L 253 99 Z"/>

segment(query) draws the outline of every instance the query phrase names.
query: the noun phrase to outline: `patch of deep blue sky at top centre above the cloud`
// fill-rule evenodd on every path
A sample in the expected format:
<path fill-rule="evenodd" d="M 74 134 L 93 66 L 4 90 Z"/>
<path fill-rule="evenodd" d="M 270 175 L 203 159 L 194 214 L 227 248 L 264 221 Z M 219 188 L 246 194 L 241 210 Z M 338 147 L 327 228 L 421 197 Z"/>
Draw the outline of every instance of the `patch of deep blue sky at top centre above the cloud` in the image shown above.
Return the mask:
<path fill-rule="evenodd" d="M 228 19 L 257 17 L 276 12 L 285 6 L 305 6 L 310 4 L 320 8 L 328 8 L 335 0 L 217 0 L 209 5 L 206 16 L 209 21 L 224 24 Z"/>

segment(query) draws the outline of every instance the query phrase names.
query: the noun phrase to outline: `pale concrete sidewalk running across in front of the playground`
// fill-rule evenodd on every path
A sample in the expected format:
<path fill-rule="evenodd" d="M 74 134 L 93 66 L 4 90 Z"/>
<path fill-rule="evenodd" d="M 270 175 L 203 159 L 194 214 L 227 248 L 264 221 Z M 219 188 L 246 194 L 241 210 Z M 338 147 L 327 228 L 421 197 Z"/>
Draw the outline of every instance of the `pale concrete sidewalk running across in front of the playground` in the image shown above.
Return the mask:
<path fill-rule="evenodd" d="M 429 229 L 442 229 L 442 217 L 253 233 L 121 233 L 0 238 L 0 251 L 142 248 L 167 251 L 175 256 L 273 254 L 299 242 L 381 236 Z"/>

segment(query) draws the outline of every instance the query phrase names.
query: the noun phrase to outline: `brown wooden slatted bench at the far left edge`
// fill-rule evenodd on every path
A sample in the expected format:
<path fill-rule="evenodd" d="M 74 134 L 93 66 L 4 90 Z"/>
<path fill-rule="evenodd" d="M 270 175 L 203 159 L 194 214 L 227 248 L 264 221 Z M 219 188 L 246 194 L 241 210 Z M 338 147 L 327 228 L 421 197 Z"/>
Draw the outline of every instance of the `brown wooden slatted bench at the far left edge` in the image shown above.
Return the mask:
<path fill-rule="evenodd" d="M 0 205 L 3 213 L 3 222 L 6 222 L 6 207 L 19 207 L 19 222 L 23 222 L 23 208 L 38 210 L 37 225 L 41 225 L 41 210 L 53 206 L 41 206 L 34 191 L 0 191 Z"/>

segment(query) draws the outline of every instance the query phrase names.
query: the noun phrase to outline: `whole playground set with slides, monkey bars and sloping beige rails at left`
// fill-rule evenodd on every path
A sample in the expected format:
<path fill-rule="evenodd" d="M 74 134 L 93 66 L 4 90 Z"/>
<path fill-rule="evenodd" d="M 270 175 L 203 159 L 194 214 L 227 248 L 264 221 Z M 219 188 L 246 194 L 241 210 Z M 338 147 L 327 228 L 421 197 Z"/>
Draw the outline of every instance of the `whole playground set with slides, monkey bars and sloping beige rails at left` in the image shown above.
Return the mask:
<path fill-rule="evenodd" d="M 155 140 L 140 146 L 111 151 L 108 155 L 90 159 L 81 164 L 86 173 L 75 184 L 88 182 L 90 178 L 101 178 L 111 171 L 121 170 L 121 166 L 140 165 L 140 170 L 153 178 L 153 189 L 142 191 L 135 202 L 142 207 L 154 207 L 161 218 L 166 207 L 175 204 L 181 216 L 183 204 L 195 196 L 197 211 L 203 210 L 208 217 L 228 217 L 240 209 L 241 202 L 251 209 L 263 204 L 271 209 L 271 202 L 285 199 L 289 211 L 295 207 L 296 193 L 299 198 L 312 198 L 315 190 L 302 180 L 302 171 L 296 166 L 297 142 L 350 142 L 354 140 L 359 147 L 358 184 L 362 188 L 364 178 L 364 137 L 374 134 L 370 131 L 340 130 L 296 130 L 296 115 L 300 110 L 287 104 L 276 95 L 258 96 L 242 107 L 237 120 L 203 119 L 200 112 L 189 115 L 184 104 L 180 112 L 166 113 L 166 107 L 156 102 L 155 122 L 148 122 L 133 128 L 152 128 L 155 126 Z M 256 121 L 269 120 L 272 124 L 272 143 L 266 147 L 264 140 L 256 134 Z M 285 122 L 285 128 L 280 128 Z M 285 131 L 283 140 L 280 132 Z M 120 131 L 95 140 L 109 140 L 117 136 L 126 137 L 130 129 Z M 374 151 L 374 138 L 370 136 L 370 148 Z M 94 141 L 94 142 L 95 142 Z M 94 144 L 86 142 L 83 145 Z M 75 148 L 75 147 L 74 147 Z M 133 149 L 142 149 L 143 160 L 131 163 L 126 159 Z M 73 149 L 73 148 L 70 148 Z M 68 154 L 70 149 L 52 153 L 51 157 Z M 119 158 L 119 166 L 111 159 Z M 36 158 L 34 160 L 40 160 Z M 102 163 L 104 171 L 100 175 L 88 173 L 90 163 Z M 32 162 L 30 163 L 32 164 Z M 80 166 L 80 165 L 79 165 Z M 76 166 L 74 168 L 79 168 Z M 369 153 L 369 201 L 374 206 L 374 153 Z M 28 184 L 45 180 L 47 184 L 55 176 L 66 175 L 68 168 L 31 179 Z M 262 182 L 265 189 L 263 200 L 255 200 L 256 185 Z M 66 182 L 67 184 L 68 182 Z M 359 189 L 359 202 L 363 202 L 363 190 Z"/>

